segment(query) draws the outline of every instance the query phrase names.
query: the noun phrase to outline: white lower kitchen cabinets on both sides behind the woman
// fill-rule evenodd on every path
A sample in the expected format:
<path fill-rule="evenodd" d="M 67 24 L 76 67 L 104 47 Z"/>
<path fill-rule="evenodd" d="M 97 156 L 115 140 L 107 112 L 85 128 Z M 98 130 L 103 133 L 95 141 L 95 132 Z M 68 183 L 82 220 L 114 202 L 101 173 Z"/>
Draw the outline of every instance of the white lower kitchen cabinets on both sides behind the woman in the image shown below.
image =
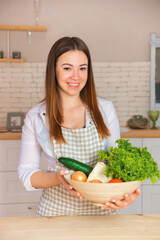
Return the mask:
<path fill-rule="evenodd" d="M 6 136 L 6 138 L 5 138 Z M 7 140 L 10 138 L 12 140 Z M 17 140 L 14 140 L 17 138 Z M 41 190 L 26 191 L 18 179 L 17 166 L 20 153 L 20 136 L 7 133 L 0 140 L 0 217 L 35 216 Z M 2 138 L 1 138 L 2 139 Z M 160 138 L 129 138 L 132 145 L 147 147 L 160 168 Z M 41 169 L 46 170 L 42 156 Z M 130 206 L 117 214 L 160 214 L 160 181 L 141 185 L 142 194 Z"/>

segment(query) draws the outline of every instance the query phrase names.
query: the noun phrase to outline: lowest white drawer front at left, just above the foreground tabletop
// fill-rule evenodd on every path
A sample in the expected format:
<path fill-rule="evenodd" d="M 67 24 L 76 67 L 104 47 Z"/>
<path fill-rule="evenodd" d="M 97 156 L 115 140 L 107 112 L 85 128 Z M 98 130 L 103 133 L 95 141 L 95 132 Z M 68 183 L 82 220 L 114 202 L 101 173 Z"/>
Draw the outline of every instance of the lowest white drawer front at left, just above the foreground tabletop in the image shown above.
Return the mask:
<path fill-rule="evenodd" d="M 0 217 L 34 217 L 37 203 L 0 204 Z"/>

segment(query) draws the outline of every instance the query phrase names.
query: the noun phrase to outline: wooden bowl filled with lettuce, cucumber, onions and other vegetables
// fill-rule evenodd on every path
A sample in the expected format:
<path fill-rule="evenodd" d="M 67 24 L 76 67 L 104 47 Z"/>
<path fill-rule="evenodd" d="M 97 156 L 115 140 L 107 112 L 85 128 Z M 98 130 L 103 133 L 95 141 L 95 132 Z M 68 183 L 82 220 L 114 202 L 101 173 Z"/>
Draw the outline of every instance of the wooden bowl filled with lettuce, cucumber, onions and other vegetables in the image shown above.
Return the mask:
<path fill-rule="evenodd" d="M 160 171 L 146 147 L 134 147 L 129 140 L 118 139 L 116 147 L 99 151 L 99 161 L 94 167 L 68 159 L 60 162 L 71 169 L 66 181 L 86 199 L 104 204 L 112 198 L 123 199 L 133 193 L 143 181 L 153 185 L 160 180 Z M 78 173 L 77 173 L 78 172 Z"/>

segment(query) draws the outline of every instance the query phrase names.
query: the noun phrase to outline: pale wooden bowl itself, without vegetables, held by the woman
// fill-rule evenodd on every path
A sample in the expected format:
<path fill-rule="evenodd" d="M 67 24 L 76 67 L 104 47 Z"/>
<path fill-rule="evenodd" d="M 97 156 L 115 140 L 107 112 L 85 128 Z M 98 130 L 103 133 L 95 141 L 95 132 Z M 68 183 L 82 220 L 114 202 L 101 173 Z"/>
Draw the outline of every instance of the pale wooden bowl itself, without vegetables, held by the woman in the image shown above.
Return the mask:
<path fill-rule="evenodd" d="M 75 190 L 80 192 L 82 196 L 96 205 L 103 205 L 106 201 L 111 201 L 112 198 L 123 199 L 124 194 L 133 193 L 136 188 L 141 185 L 141 181 L 122 182 L 122 183 L 89 183 L 78 182 L 71 179 L 74 171 L 70 171 L 65 175 L 66 181 L 71 184 Z"/>

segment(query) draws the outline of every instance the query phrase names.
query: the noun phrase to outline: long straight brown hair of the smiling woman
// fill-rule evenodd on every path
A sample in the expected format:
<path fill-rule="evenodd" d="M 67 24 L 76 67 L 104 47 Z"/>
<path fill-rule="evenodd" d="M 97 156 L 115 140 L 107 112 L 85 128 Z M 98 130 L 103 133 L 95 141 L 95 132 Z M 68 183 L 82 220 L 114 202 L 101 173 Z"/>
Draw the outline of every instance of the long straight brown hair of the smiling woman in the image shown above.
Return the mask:
<path fill-rule="evenodd" d="M 100 138 L 104 139 L 110 136 L 110 133 L 98 108 L 90 52 L 86 44 L 77 37 L 59 39 L 52 46 L 48 55 L 45 78 L 45 101 L 50 139 L 54 138 L 58 143 L 66 143 L 61 130 L 63 113 L 56 79 L 56 63 L 63 53 L 73 50 L 83 51 L 88 58 L 88 79 L 85 87 L 81 90 L 80 97 L 88 106 Z"/>

